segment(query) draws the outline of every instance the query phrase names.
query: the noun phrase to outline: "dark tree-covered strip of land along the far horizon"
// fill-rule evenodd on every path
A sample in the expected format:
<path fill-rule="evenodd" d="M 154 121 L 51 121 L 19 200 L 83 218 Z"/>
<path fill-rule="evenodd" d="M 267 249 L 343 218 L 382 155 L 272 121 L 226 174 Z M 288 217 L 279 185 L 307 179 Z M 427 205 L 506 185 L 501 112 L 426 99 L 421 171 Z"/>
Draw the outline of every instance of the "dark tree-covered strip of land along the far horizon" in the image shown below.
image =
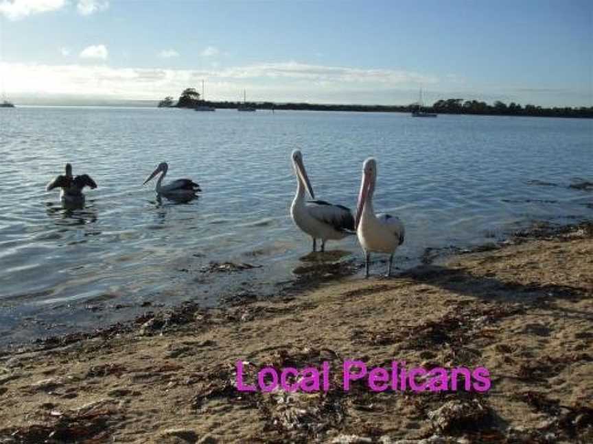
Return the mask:
<path fill-rule="evenodd" d="M 197 106 L 213 106 L 214 108 L 238 108 L 244 103 L 240 101 L 205 101 L 200 99 L 200 93 L 195 88 L 185 88 L 175 103 L 172 96 L 159 101 L 159 108 L 196 108 Z M 412 112 L 419 108 L 417 103 L 410 105 L 326 105 L 321 103 L 275 103 L 248 102 L 247 106 L 259 110 L 311 110 L 311 111 L 358 111 L 358 112 Z M 491 105 L 485 101 L 446 99 L 437 100 L 432 106 L 424 106 L 422 110 L 437 114 L 481 114 L 490 116 L 536 116 L 536 117 L 579 117 L 593 118 L 593 106 L 570 108 L 543 108 L 527 104 L 511 102 L 507 105 L 502 101 L 495 101 Z"/>

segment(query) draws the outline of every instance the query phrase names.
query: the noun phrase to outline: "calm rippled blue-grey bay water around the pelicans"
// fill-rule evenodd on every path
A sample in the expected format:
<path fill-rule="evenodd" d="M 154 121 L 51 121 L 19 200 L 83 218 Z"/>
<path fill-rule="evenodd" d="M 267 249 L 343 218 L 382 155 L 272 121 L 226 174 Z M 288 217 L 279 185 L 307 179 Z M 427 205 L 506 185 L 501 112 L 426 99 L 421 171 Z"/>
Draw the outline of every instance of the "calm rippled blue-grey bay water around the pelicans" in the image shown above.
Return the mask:
<path fill-rule="evenodd" d="M 145 301 L 213 304 L 292 278 L 310 239 L 292 225 L 290 151 L 321 199 L 356 205 L 362 162 L 378 160 L 375 208 L 398 214 L 398 265 L 426 247 L 472 245 L 533 220 L 593 217 L 593 121 L 235 110 L 0 110 L 0 333 L 3 343 L 104 325 Z M 155 201 L 156 164 L 191 177 L 200 199 Z M 45 184 L 72 162 L 99 185 L 65 212 Z M 165 179 L 166 181 L 166 179 Z M 356 238 L 329 243 L 362 260 Z M 261 268 L 205 273 L 210 261 Z M 384 271 L 375 264 L 373 271 Z M 119 310 L 89 310 L 89 306 Z M 122 307 L 123 306 L 123 307 Z M 126 309 L 126 306 L 132 306 Z"/>

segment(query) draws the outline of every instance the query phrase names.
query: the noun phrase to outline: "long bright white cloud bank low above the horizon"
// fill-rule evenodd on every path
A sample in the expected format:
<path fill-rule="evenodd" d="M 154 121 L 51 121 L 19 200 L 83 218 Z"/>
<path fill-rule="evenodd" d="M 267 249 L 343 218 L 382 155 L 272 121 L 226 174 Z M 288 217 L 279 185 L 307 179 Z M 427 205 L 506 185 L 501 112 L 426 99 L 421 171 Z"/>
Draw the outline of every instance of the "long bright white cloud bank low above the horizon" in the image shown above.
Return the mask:
<path fill-rule="evenodd" d="M 50 66 L 5 63 L 1 71 L 8 74 L 5 84 L 10 87 L 8 93 L 11 94 L 153 100 L 167 95 L 176 97 L 184 88 L 191 86 L 200 88 L 202 79 L 205 79 L 207 97 L 216 100 L 240 100 L 246 89 L 252 100 L 410 103 L 417 98 L 417 81 L 422 84 L 438 81 L 430 75 L 399 70 L 354 69 L 294 62 L 235 68 L 210 66 L 201 70 L 113 68 L 104 64 Z M 43 83 L 38 82 L 38 79 L 43 79 Z M 436 86 L 431 88 L 434 93 L 437 89 Z"/>

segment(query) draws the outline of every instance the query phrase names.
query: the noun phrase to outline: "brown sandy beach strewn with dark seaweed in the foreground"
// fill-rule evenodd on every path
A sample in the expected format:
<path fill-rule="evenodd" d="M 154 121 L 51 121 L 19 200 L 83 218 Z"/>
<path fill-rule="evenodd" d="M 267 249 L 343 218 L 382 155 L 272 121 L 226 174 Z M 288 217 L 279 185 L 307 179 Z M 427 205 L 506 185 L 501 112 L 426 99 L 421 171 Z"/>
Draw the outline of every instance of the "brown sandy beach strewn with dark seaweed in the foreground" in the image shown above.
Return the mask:
<path fill-rule="evenodd" d="M 593 442 L 593 225 L 483 249 L 7 352 L 0 443 Z M 343 391 L 347 359 L 486 367 L 492 385 Z M 269 365 L 329 362 L 330 388 L 240 393 L 237 360 L 251 382 Z"/>

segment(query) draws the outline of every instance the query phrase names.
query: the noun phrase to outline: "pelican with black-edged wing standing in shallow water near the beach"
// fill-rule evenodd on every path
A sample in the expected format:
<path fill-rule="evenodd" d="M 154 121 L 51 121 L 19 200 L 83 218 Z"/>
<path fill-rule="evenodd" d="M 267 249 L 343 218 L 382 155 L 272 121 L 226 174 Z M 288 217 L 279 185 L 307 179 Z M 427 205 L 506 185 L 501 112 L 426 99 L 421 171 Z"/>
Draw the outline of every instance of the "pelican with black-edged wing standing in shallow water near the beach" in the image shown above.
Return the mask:
<path fill-rule="evenodd" d="M 316 251 L 316 240 L 321 238 L 321 251 L 325 251 L 328 239 L 339 240 L 353 234 L 354 218 L 348 208 L 341 205 L 328 204 L 326 201 L 313 200 L 305 202 L 305 188 L 315 199 L 311 182 L 305 171 L 301 151 L 292 151 L 292 166 L 298 186 L 296 195 L 290 206 L 290 216 L 295 225 L 313 238 L 313 251 Z"/>

